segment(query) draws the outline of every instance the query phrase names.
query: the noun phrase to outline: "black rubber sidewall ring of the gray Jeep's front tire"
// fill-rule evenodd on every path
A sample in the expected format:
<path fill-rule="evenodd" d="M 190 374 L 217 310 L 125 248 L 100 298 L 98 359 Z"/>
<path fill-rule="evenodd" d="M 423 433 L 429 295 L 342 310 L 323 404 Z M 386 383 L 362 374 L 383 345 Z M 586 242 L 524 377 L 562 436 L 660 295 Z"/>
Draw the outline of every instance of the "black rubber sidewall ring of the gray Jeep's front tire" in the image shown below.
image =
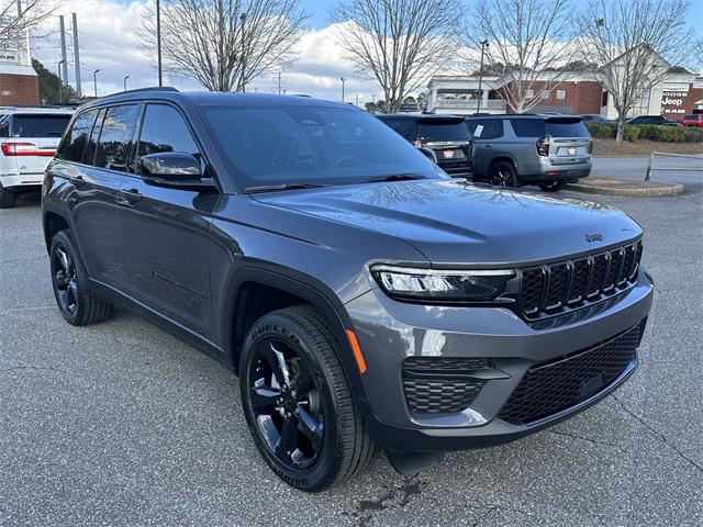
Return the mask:
<path fill-rule="evenodd" d="M 324 439 L 322 453 L 315 463 L 304 470 L 294 470 L 282 464 L 270 451 L 266 441 L 260 437 L 256 417 L 252 408 L 249 397 L 250 366 L 254 359 L 254 350 L 261 341 L 276 338 L 284 340 L 295 352 L 301 356 L 311 368 L 315 386 L 324 397 Z M 301 335 L 300 327 L 290 318 L 271 313 L 256 322 L 244 344 L 239 359 L 239 392 L 242 397 L 242 408 L 247 421 L 254 441 L 261 452 L 268 466 L 287 483 L 305 491 L 316 491 L 319 486 L 328 481 L 338 469 L 338 425 L 337 425 L 337 402 L 331 390 L 332 380 L 325 368 L 320 362 L 311 344 L 306 337 Z"/>

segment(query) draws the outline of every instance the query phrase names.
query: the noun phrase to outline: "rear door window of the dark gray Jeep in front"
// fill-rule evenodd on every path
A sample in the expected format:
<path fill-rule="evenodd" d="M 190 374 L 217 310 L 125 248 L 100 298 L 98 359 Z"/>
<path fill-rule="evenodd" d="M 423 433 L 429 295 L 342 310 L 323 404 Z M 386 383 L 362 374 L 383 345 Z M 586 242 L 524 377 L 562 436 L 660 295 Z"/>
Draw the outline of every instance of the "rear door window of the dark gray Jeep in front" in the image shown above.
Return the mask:
<path fill-rule="evenodd" d="M 96 150 L 96 167 L 126 171 L 138 110 L 136 104 L 108 109 Z"/>

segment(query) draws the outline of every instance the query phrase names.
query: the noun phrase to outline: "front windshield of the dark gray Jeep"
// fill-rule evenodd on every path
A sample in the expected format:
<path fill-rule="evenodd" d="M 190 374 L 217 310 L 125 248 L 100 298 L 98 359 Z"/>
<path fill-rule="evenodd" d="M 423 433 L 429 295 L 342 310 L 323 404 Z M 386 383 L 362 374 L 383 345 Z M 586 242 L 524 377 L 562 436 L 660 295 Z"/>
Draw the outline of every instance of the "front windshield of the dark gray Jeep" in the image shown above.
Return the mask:
<path fill-rule="evenodd" d="M 203 106 L 242 188 L 348 184 L 371 178 L 446 175 L 369 113 L 310 105 Z"/>

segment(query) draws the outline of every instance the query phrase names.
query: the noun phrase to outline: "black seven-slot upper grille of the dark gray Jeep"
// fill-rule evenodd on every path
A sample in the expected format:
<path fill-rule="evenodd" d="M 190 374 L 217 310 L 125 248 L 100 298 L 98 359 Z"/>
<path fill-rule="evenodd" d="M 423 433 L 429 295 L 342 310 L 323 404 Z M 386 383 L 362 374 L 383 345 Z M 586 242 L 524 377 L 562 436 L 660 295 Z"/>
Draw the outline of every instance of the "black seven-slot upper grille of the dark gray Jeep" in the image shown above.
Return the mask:
<path fill-rule="evenodd" d="M 522 269 L 521 311 L 537 319 L 616 294 L 637 279 L 641 242 Z"/>

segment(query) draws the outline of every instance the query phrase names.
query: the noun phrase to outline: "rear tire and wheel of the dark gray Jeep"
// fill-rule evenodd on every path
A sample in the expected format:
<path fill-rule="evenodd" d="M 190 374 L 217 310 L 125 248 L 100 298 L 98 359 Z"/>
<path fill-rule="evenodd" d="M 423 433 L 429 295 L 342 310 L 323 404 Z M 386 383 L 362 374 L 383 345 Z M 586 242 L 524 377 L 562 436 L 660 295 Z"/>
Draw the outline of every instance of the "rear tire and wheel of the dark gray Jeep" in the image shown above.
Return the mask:
<path fill-rule="evenodd" d="M 112 304 L 97 299 L 88 288 L 88 273 L 70 231 L 52 238 L 52 285 L 62 316 L 74 326 L 87 326 L 112 316 Z"/>

